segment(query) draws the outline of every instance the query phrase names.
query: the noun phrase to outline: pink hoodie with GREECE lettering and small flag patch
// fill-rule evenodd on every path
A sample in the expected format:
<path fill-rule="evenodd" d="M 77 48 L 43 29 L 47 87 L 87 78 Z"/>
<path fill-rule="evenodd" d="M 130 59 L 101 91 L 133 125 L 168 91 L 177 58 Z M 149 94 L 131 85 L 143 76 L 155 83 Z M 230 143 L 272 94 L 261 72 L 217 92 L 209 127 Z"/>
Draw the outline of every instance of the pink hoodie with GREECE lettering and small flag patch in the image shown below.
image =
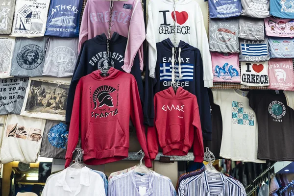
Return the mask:
<path fill-rule="evenodd" d="M 79 51 L 86 40 L 102 33 L 107 35 L 109 8 L 110 1 L 107 0 L 87 1 L 80 27 Z M 143 42 L 146 38 L 146 32 L 141 1 L 114 1 L 112 21 L 111 34 L 117 32 L 123 37 L 128 38 L 123 70 L 127 73 L 131 72 L 134 58 L 139 51 L 140 69 L 143 71 Z"/>

